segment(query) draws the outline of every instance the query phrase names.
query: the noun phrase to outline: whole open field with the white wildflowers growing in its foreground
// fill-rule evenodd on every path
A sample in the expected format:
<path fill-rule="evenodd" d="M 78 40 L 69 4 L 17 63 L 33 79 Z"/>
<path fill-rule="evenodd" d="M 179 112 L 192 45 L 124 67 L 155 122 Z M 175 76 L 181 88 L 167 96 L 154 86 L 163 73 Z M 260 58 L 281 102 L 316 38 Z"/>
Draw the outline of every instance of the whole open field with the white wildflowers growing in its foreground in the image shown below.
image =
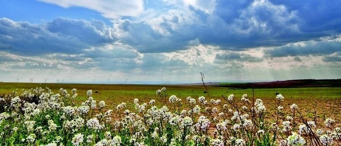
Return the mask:
<path fill-rule="evenodd" d="M 30 90 L 36 87 L 54 93 Z M 212 85 L 208 93 L 204 91 L 200 85 L 0 83 L 0 129 L 4 131 L 0 145 L 340 143 L 340 87 L 252 90 Z"/>

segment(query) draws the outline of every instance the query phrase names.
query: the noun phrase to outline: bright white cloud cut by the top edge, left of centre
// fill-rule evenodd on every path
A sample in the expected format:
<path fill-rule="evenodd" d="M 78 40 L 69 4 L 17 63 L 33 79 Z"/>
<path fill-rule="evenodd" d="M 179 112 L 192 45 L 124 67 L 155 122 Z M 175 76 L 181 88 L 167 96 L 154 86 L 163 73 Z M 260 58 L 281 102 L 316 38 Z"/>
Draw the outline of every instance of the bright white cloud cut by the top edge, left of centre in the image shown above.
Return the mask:
<path fill-rule="evenodd" d="M 136 17 L 144 10 L 143 0 L 39 0 L 68 8 L 72 6 L 95 10 L 105 18 Z"/>

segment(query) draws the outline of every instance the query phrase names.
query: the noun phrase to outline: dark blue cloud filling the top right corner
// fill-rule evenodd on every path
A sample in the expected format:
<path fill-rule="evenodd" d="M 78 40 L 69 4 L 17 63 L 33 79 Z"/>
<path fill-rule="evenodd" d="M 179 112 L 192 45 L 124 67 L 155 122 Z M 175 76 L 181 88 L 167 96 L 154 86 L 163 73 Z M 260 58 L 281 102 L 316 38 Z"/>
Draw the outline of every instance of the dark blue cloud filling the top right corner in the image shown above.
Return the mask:
<path fill-rule="evenodd" d="M 301 18 L 301 31 L 312 36 L 341 31 L 341 1 L 311 1 L 311 0 L 272 0 L 275 4 L 284 5 L 290 11 L 296 11 Z"/>

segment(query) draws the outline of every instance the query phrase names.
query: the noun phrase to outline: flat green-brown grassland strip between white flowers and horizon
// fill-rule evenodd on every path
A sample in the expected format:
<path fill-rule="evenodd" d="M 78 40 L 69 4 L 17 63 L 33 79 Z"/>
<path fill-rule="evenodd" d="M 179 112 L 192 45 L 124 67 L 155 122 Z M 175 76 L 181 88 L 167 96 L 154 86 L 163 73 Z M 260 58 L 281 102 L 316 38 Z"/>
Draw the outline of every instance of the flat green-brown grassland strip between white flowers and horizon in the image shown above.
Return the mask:
<path fill-rule="evenodd" d="M 54 92 L 58 92 L 60 88 L 71 91 L 77 89 L 77 101 L 80 103 L 87 99 L 86 91 L 93 90 L 95 100 L 103 100 L 107 103 L 108 109 L 115 109 L 121 102 L 126 102 L 128 107 L 133 106 L 134 98 L 140 99 L 140 102 L 149 102 L 155 99 L 157 104 L 160 97 L 156 95 L 156 90 L 166 87 L 168 97 L 176 95 L 178 98 L 186 102 L 186 97 L 191 96 L 198 98 L 205 96 L 210 99 L 222 99 L 222 95 L 228 96 L 234 94 L 241 97 L 247 94 L 252 97 L 252 89 L 228 89 L 227 87 L 208 88 L 208 93 L 204 93 L 203 86 L 181 86 L 181 85 L 108 85 L 108 84 L 61 84 L 61 83 L 0 83 L 0 93 L 9 93 L 11 91 L 20 92 L 22 89 L 29 90 L 36 87 L 48 87 Z M 98 93 L 95 93 L 98 91 Z M 261 98 L 268 111 L 275 111 L 275 93 L 279 92 L 284 96 L 284 105 L 286 109 L 293 103 L 299 106 L 299 110 L 307 117 L 313 117 L 317 112 L 320 118 L 331 117 L 341 122 L 341 88 L 340 87 L 321 87 L 321 88 L 271 88 L 271 89 L 254 89 L 254 97 Z M 167 97 L 167 99 L 168 99 Z M 223 100 L 224 101 L 224 100 Z M 165 102 L 167 103 L 167 102 Z M 186 106 L 186 105 L 185 105 Z"/>

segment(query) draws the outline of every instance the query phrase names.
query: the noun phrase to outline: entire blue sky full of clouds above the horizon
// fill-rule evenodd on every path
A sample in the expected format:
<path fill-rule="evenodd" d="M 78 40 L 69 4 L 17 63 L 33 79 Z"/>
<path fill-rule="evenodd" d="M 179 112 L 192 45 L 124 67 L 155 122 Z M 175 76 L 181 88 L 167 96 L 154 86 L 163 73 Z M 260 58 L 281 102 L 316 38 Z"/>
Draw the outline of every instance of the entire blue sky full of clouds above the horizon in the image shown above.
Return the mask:
<path fill-rule="evenodd" d="M 0 0 L 0 81 L 337 79 L 340 10 L 340 0 Z"/>

